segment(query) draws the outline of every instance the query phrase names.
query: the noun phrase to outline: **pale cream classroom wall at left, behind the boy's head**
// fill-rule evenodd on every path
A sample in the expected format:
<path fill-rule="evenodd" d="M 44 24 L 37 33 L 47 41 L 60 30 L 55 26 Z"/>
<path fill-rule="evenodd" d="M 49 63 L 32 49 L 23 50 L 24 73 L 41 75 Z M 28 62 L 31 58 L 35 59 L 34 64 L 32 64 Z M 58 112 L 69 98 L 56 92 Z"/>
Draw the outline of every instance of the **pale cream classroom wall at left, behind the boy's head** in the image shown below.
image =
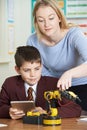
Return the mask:
<path fill-rule="evenodd" d="M 5 78 L 17 74 L 14 53 L 31 34 L 31 0 L 14 0 L 14 51 L 9 53 L 7 0 L 0 0 L 0 88 Z"/>

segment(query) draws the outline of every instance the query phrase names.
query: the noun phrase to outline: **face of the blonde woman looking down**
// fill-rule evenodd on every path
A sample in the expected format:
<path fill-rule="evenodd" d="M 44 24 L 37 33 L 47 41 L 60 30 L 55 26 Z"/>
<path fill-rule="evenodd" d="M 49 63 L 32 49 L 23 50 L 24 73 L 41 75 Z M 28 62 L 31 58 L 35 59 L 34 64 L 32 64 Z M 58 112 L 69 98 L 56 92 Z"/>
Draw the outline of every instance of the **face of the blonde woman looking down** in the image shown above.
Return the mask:
<path fill-rule="evenodd" d="M 50 6 L 41 6 L 36 11 L 36 20 L 40 31 L 48 37 L 58 33 L 60 30 L 56 12 Z"/>

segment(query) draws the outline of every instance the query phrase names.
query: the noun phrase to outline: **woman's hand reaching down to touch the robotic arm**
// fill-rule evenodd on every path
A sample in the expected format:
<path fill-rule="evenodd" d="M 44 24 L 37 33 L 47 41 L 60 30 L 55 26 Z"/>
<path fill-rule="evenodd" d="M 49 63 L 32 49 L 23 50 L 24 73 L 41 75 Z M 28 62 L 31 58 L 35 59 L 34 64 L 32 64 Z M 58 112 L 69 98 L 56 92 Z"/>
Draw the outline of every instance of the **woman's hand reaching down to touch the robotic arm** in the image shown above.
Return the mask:
<path fill-rule="evenodd" d="M 57 87 L 59 90 L 66 90 L 71 87 L 72 76 L 70 71 L 66 71 L 58 80 Z"/>

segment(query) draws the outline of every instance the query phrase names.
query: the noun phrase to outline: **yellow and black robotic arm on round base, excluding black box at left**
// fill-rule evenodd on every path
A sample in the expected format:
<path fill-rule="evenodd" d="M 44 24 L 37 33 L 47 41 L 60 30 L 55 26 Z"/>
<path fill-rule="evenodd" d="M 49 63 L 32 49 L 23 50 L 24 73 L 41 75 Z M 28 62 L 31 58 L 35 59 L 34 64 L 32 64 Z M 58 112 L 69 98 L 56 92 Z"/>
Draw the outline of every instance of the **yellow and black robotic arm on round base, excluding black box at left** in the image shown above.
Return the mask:
<path fill-rule="evenodd" d="M 48 102 L 47 114 L 43 116 L 44 125 L 60 125 L 61 118 L 58 114 L 57 102 L 58 99 L 62 100 L 65 97 L 69 100 L 75 101 L 76 99 L 80 101 L 79 97 L 71 91 L 47 91 L 44 93 L 44 98 Z"/>

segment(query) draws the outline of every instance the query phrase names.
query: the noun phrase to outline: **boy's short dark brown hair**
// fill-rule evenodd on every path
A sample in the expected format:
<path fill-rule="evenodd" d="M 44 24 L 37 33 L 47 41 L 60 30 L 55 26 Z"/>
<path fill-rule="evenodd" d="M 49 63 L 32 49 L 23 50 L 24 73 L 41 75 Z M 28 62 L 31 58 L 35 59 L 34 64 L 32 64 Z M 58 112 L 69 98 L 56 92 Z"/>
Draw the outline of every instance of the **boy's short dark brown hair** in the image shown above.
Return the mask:
<path fill-rule="evenodd" d="M 19 46 L 15 53 L 15 63 L 17 67 L 21 67 L 25 61 L 41 64 L 41 56 L 38 49 L 33 46 Z"/>

